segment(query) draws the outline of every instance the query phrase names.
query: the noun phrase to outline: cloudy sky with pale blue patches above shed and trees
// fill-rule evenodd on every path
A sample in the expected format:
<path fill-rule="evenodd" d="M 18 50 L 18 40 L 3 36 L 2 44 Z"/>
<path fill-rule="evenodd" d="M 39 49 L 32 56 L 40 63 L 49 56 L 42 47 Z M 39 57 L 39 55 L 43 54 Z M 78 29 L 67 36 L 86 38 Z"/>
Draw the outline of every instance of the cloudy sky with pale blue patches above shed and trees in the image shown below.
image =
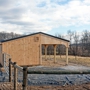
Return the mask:
<path fill-rule="evenodd" d="M 0 31 L 90 31 L 90 0 L 0 0 Z"/>

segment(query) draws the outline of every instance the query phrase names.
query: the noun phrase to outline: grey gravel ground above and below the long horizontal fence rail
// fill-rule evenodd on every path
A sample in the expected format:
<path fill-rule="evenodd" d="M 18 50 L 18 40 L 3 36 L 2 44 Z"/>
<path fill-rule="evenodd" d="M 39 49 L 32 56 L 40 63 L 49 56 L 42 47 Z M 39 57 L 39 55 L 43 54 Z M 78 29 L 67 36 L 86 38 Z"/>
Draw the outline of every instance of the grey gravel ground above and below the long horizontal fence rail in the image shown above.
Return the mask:
<path fill-rule="evenodd" d="M 73 70 L 73 71 L 82 71 L 82 70 L 90 70 L 90 67 L 86 66 L 77 66 L 77 65 L 69 65 L 63 67 L 30 67 L 32 70 Z M 8 75 L 5 72 L 0 72 L 0 82 L 8 81 Z M 18 73 L 18 81 L 22 82 L 22 73 Z M 29 74 L 28 75 L 28 85 L 80 85 L 84 83 L 90 83 L 90 74 L 75 74 L 75 75 L 46 75 L 46 74 Z"/>

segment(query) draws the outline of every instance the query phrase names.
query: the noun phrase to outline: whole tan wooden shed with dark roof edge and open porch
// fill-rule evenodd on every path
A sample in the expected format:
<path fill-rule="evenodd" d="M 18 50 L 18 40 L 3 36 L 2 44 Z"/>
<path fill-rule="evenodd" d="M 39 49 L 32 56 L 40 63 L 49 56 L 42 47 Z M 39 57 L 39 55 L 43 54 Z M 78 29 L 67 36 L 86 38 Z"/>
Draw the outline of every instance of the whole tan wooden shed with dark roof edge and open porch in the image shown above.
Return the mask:
<path fill-rule="evenodd" d="M 42 64 L 42 45 L 45 46 L 45 58 L 47 46 L 54 46 L 54 62 L 56 62 L 56 46 L 58 44 L 66 46 L 66 63 L 68 64 L 69 41 L 43 32 L 4 40 L 1 42 L 0 47 L 1 53 L 9 54 L 13 62 L 17 62 L 21 66 L 30 66 Z M 3 64 L 3 59 L 0 62 Z"/>

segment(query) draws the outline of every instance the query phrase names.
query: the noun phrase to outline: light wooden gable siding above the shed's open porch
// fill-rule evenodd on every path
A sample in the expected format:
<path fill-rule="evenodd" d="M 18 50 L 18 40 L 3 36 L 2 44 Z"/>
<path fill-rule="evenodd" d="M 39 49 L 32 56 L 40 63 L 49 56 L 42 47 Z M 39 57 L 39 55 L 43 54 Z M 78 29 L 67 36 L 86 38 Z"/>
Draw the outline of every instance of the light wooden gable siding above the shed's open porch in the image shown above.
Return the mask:
<path fill-rule="evenodd" d="M 41 35 L 41 44 L 63 44 L 66 47 L 69 47 L 69 42 L 43 34 Z"/>

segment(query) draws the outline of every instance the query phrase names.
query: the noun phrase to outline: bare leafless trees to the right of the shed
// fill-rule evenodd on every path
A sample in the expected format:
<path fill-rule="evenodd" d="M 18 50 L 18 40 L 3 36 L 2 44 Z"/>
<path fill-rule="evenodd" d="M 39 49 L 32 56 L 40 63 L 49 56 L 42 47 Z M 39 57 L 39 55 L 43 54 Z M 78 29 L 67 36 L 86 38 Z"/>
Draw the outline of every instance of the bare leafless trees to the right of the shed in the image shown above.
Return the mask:
<path fill-rule="evenodd" d="M 75 56 L 90 56 L 90 32 L 85 30 L 81 33 L 69 32 L 69 54 Z"/>

